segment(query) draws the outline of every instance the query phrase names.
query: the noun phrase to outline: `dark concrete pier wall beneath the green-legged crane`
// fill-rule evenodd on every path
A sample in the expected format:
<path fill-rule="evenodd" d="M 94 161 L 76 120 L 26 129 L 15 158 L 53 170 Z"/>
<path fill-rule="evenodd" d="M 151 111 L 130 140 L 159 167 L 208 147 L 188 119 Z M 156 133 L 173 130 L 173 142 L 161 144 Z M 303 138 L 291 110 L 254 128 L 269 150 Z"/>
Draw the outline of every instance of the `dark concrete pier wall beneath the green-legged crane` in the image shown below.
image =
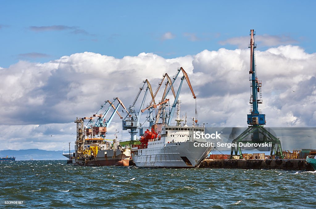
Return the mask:
<path fill-rule="evenodd" d="M 239 169 L 282 169 L 314 171 L 305 159 L 205 159 L 200 168 L 239 168 Z"/>

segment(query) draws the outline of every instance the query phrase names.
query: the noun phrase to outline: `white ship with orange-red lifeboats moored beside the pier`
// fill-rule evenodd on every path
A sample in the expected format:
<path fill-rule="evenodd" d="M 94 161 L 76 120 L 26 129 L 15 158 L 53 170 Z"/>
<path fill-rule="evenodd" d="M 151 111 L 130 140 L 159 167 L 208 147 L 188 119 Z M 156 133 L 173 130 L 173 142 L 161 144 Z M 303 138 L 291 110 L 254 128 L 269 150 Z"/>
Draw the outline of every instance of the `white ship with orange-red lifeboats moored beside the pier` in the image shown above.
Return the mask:
<path fill-rule="evenodd" d="M 175 125 L 153 125 L 141 138 L 141 144 L 131 148 L 131 156 L 137 167 L 197 167 L 212 150 L 206 139 L 194 139 L 194 132 L 204 133 L 205 125 L 189 126 L 179 118 L 179 104 Z"/>

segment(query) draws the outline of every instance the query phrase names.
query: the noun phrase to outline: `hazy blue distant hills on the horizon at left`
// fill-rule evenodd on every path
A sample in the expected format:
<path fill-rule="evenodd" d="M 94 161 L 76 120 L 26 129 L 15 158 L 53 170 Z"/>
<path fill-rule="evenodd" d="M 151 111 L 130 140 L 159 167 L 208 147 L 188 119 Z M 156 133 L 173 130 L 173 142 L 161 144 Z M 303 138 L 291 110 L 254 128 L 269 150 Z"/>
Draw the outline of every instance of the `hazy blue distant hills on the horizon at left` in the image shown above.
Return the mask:
<path fill-rule="evenodd" d="M 68 153 L 69 151 L 65 151 Z M 74 150 L 71 150 L 74 152 Z M 40 149 L 27 149 L 27 150 L 0 150 L 0 157 L 14 156 L 15 160 L 67 160 L 64 157 L 63 151 L 49 151 Z"/>

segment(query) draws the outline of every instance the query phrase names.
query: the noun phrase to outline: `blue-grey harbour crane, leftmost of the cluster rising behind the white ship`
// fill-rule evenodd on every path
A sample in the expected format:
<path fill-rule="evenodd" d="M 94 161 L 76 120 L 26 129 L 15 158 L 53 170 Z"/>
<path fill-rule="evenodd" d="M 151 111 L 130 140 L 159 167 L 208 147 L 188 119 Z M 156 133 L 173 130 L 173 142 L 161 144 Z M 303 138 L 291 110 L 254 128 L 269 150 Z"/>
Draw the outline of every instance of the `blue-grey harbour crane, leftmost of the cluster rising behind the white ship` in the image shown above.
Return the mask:
<path fill-rule="evenodd" d="M 154 98 L 154 94 L 153 94 L 153 91 L 152 91 L 152 88 L 151 88 L 151 85 L 149 83 L 149 81 L 146 79 L 143 81 L 143 86 L 139 88 L 139 91 L 134 99 L 134 102 L 133 104 L 129 107 L 129 113 L 128 115 L 124 118 L 124 120 L 122 121 L 122 125 L 123 125 L 123 130 L 129 130 L 129 133 L 131 134 L 131 140 L 136 140 L 136 135 L 138 133 L 137 129 L 139 128 L 138 127 L 138 121 L 140 120 L 140 117 L 142 115 L 142 109 L 144 107 L 144 104 L 145 104 L 145 100 L 146 100 L 146 96 L 147 96 L 147 93 L 148 93 L 148 90 L 150 92 L 150 95 L 151 95 L 151 98 L 153 100 L 153 102 L 155 103 L 155 98 Z M 142 103 L 140 105 L 140 109 L 138 110 L 138 112 L 136 113 L 135 111 L 135 105 L 136 105 L 136 102 L 141 94 L 141 92 L 143 91 L 145 85 L 147 84 L 147 87 L 146 87 L 146 90 L 145 90 L 145 94 L 144 94 L 144 97 L 143 97 L 143 100 L 142 100 Z"/>

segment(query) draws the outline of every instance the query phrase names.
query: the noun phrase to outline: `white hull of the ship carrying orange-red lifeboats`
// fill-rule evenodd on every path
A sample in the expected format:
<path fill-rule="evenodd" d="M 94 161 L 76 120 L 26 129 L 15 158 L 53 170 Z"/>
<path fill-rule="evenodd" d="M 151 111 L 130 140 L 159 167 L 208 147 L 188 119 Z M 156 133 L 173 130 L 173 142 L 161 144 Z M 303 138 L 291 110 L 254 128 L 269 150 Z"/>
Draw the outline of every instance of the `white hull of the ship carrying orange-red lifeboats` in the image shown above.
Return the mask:
<path fill-rule="evenodd" d="M 206 158 L 212 147 L 195 147 L 194 143 L 167 143 L 162 146 L 138 149 L 138 155 L 132 158 L 137 167 L 196 168 Z"/>

